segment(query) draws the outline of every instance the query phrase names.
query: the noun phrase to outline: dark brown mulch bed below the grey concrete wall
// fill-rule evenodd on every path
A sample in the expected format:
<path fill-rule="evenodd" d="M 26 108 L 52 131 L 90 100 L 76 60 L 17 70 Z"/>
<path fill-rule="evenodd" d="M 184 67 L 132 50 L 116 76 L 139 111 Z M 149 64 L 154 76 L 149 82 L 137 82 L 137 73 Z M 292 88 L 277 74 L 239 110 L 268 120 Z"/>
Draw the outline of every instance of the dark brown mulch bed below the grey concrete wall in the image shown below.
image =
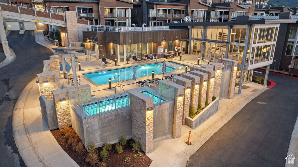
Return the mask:
<path fill-rule="evenodd" d="M 90 165 L 85 162 L 85 157 L 86 157 L 86 152 L 75 152 L 70 148 L 70 146 L 66 143 L 66 139 L 59 133 L 59 129 L 56 130 L 51 130 L 53 136 L 59 143 L 59 145 L 62 147 L 62 149 L 71 157 L 79 166 L 82 167 L 89 167 Z M 112 144 L 112 149 L 107 150 L 108 154 L 104 158 L 100 158 L 100 162 L 105 163 L 106 167 L 115 167 L 115 166 L 123 166 L 123 167 L 129 167 L 129 166 L 134 166 L 134 167 L 148 167 L 150 166 L 152 160 L 147 157 L 142 150 L 141 152 L 143 155 L 142 157 L 137 156 L 137 158 L 134 158 L 132 155 L 133 154 L 138 154 L 137 151 L 134 151 L 132 147 L 130 146 L 130 143 L 132 142 L 132 139 L 129 139 L 127 141 L 127 144 L 123 145 L 123 152 L 122 153 L 117 153 L 115 151 L 115 144 Z M 81 141 L 82 142 L 82 141 Z M 103 147 L 98 147 L 96 148 L 97 154 L 99 155 L 100 152 L 102 151 Z M 130 158 L 129 163 L 124 163 L 123 159 L 125 157 Z M 90 166 L 91 167 L 91 166 Z"/>

